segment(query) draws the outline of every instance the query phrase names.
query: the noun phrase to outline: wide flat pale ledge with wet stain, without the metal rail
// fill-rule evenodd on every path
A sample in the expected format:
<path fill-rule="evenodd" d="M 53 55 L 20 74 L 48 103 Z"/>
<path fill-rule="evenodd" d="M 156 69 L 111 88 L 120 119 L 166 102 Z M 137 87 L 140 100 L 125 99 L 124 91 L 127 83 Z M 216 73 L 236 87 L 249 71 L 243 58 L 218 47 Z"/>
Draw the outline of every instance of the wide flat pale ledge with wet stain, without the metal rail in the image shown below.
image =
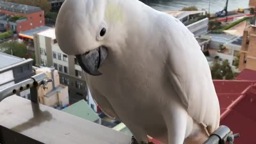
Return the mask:
<path fill-rule="evenodd" d="M 131 141 L 131 135 L 18 96 L 0 102 L 0 115 L 0 143 L 127 144 Z"/>

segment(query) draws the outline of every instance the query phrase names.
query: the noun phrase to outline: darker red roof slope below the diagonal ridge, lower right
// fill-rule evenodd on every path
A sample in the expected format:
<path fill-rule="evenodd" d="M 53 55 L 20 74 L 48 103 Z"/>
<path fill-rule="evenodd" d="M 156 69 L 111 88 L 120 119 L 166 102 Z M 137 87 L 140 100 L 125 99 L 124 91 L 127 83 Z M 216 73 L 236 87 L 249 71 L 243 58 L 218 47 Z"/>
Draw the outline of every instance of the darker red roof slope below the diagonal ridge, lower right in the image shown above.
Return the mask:
<path fill-rule="evenodd" d="M 227 125 L 234 133 L 241 137 L 235 143 L 254 144 L 254 133 L 256 127 L 256 84 L 247 87 L 243 93 L 228 109 L 221 115 L 221 125 Z"/>

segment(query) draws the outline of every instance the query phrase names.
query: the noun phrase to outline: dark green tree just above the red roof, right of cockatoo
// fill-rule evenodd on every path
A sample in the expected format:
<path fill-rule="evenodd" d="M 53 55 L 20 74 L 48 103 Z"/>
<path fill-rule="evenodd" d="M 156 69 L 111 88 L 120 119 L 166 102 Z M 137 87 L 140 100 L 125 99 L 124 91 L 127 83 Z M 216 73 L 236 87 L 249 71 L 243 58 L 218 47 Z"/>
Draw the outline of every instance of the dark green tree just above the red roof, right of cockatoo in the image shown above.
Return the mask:
<path fill-rule="evenodd" d="M 220 62 L 215 60 L 211 67 L 212 79 L 234 79 L 234 73 L 229 65 L 228 60 Z"/>

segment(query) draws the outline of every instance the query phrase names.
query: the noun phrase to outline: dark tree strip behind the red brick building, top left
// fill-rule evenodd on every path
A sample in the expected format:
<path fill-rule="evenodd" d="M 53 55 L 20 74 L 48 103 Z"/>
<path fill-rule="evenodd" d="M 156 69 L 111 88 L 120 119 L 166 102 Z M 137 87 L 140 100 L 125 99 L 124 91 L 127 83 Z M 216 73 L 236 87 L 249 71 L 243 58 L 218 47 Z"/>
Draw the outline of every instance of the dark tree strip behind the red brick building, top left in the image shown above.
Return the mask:
<path fill-rule="evenodd" d="M 49 13 L 51 10 L 51 3 L 49 3 L 47 0 L 5 0 L 5 1 L 41 7 L 41 9 L 44 10 L 45 13 Z"/>

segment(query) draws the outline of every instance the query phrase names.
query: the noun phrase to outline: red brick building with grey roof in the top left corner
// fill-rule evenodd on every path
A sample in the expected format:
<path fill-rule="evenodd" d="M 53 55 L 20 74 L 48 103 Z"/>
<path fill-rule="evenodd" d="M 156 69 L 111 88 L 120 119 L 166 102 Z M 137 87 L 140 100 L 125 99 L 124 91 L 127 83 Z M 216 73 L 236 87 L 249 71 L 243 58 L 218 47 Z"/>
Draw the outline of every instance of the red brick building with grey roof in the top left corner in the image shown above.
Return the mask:
<path fill-rule="evenodd" d="M 17 33 L 45 26 L 44 11 L 39 7 L 0 1 L 0 29 Z"/>

